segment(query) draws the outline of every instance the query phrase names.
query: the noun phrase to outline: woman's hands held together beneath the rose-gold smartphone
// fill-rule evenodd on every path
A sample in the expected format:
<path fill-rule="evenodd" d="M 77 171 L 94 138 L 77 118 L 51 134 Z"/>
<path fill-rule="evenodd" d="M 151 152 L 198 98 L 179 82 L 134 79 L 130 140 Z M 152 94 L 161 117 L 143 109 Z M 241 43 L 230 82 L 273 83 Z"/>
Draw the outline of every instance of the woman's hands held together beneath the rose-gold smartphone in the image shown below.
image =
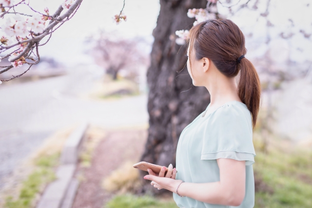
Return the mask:
<path fill-rule="evenodd" d="M 149 175 L 145 175 L 144 179 L 151 180 L 151 185 L 154 185 L 157 189 L 167 189 L 176 193 L 176 187 L 181 182 L 181 180 L 176 180 L 176 168 L 173 169 L 172 164 L 170 164 L 166 175 L 165 171 L 165 166 L 161 168 L 159 174 L 148 169 Z"/>

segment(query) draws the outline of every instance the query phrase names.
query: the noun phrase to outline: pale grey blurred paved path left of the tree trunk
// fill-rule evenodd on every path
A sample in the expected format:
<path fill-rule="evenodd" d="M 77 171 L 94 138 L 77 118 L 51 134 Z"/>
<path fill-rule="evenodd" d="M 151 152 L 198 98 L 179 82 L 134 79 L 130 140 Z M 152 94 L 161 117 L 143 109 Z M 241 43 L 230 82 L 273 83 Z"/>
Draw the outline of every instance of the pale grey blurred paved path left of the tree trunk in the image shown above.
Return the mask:
<path fill-rule="evenodd" d="M 53 132 L 87 121 L 109 127 L 148 122 L 147 95 L 114 101 L 79 98 L 96 77 L 88 67 L 66 76 L 12 86 L 0 85 L 0 189 L 1 180 Z"/>

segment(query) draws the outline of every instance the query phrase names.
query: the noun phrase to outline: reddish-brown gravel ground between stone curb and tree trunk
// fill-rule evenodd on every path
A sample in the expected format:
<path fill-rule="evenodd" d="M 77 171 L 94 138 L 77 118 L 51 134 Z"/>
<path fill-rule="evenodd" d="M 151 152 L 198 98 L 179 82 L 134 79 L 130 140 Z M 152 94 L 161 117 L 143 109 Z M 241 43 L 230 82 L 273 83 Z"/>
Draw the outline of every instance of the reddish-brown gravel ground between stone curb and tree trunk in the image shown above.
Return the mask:
<path fill-rule="evenodd" d="M 94 150 L 91 167 L 78 167 L 83 174 L 73 208 L 102 208 L 112 194 L 101 188 L 102 180 L 126 160 L 138 161 L 144 150 L 147 130 L 111 131 Z"/>

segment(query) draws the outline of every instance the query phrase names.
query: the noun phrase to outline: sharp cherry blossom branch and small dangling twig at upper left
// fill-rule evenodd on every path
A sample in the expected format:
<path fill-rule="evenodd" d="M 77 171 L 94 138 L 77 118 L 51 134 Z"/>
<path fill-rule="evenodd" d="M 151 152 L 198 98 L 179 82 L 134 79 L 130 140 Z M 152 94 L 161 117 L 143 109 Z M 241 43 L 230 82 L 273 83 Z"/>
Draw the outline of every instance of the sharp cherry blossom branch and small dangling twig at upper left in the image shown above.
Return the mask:
<path fill-rule="evenodd" d="M 16 46 L 19 48 L 6 54 L 4 57 L 0 57 L 0 61 L 3 58 L 9 57 L 9 61 L 12 63 L 10 66 L 1 66 L 0 68 L 2 69 L 0 69 L 0 74 L 12 69 L 13 67 L 20 67 L 23 64 L 28 64 L 30 66 L 18 76 L 12 75 L 13 77 L 10 79 L 0 80 L 0 84 L 1 81 L 9 81 L 24 75 L 34 64 L 39 63 L 39 46 L 43 46 L 49 42 L 52 37 L 52 33 L 66 21 L 74 17 L 82 0 L 64 0 L 53 15 L 49 15 L 48 8 L 44 9 L 45 14 L 36 11 L 29 5 L 29 0 L 20 0 L 20 2 L 16 4 L 13 4 L 12 0 L 2 0 L 1 2 L 3 3 L 0 3 L 0 9 L 2 9 L 0 18 L 3 18 L 6 14 L 15 14 L 15 16 L 13 17 L 14 20 L 7 18 L 5 24 L 0 27 L 4 34 L 6 34 L 5 36 L 8 37 L 6 38 L 3 36 L 0 38 L 0 54 L 7 52 Z M 24 4 L 29 7 L 32 12 L 35 12 L 35 14 L 17 12 L 16 7 L 20 4 Z M 127 20 L 127 17 L 123 14 L 124 7 L 125 0 L 123 0 L 123 6 L 119 15 L 115 16 L 115 21 L 117 23 L 119 23 L 120 20 Z M 62 14 L 64 9 L 67 10 Z M 24 19 L 22 16 L 30 18 Z M 50 21 L 48 25 L 45 26 L 47 20 Z M 47 36 L 49 37 L 46 41 L 40 44 L 40 41 Z M 33 62 L 29 60 L 32 60 Z"/>

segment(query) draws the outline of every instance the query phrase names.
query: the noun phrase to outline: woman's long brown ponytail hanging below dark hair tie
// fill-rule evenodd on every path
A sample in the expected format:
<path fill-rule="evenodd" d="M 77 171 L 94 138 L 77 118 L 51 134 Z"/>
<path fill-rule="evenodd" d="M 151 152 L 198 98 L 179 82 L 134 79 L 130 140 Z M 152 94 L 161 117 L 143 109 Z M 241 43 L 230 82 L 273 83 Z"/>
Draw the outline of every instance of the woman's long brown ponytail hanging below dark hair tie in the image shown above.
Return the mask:
<path fill-rule="evenodd" d="M 247 58 L 240 60 L 240 78 L 237 87 L 237 94 L 241 101 L 247 105 L 252 113 L 253 128 L 259 112 L 261 86 L 259 76 L 252 62 Z"/>

